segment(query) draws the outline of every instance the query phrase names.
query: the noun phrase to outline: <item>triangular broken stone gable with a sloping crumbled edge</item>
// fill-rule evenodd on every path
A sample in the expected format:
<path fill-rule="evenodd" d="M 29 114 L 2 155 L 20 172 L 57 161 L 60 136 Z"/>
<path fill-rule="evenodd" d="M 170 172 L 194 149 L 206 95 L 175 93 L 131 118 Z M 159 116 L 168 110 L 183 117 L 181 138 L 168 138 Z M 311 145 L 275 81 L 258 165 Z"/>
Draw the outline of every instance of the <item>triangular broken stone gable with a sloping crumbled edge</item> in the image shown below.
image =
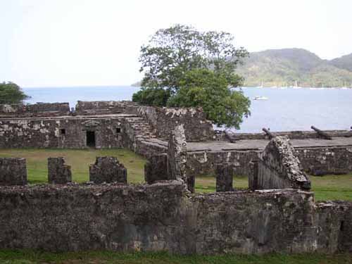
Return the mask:
<path fill-rule="evenodd" d="M 308 175 L 294 156 L 288 137 L 275 137 L 259 154 L 249 175 L 251 189 L 310 189 Z"/>

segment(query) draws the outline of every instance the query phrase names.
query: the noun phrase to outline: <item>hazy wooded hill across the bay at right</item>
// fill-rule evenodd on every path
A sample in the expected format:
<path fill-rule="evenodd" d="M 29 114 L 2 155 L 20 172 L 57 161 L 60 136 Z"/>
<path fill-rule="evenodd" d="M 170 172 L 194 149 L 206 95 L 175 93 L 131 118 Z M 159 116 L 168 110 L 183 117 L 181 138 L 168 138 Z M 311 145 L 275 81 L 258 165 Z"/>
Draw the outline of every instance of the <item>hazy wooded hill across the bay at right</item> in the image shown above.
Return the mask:
<path fill-rule="evenodd" d="M 253 52 L 239 66 L 245 86 L 352 87 L 352 54 L 322 60 L 305 49 Z"/>

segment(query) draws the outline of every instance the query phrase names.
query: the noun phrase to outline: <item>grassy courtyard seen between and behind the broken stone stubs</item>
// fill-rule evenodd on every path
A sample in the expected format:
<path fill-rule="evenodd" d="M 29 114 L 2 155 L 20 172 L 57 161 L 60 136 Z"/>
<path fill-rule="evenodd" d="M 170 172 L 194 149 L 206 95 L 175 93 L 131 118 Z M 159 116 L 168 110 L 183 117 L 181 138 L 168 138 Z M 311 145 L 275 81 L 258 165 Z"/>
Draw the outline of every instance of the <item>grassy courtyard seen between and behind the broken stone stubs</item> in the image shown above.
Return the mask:
<path fill-rule="evenodd" d="M 94 163 L 96 156 L 115 156 L 125 165 L 128 182 L 144 182 L 144 163 L 146 159 L 127 149 L 0 149 L 0 157 L 23 157 L 27 159 L 27 174 L 30 184 L 47 181 L 47 158 L 65 157 L 71 165 L 73 181 L 89 180 L 89 164 Z M 352 201 L 352 175 L 326 175 L 310 177 L 315 200 L 348 200 Z M 247 177 L 234 177 L 234 187 L 248 188 Z M 197 177 L 197 192 L 215 191 L 215 178 Z"/>

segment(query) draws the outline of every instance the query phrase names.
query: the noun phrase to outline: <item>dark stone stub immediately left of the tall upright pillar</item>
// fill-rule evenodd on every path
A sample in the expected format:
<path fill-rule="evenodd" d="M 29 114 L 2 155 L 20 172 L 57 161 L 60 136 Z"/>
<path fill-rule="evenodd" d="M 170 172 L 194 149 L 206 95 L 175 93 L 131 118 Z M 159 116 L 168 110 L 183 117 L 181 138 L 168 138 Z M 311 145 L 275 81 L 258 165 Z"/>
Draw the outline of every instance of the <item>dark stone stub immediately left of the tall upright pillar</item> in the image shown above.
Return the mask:
<path fill-rule="evenodd" d="M 144 179 L 152 184 L 160 180 L 169 180 L 168 155 L 166 153 L 153 155 L 144 165 Z"/>

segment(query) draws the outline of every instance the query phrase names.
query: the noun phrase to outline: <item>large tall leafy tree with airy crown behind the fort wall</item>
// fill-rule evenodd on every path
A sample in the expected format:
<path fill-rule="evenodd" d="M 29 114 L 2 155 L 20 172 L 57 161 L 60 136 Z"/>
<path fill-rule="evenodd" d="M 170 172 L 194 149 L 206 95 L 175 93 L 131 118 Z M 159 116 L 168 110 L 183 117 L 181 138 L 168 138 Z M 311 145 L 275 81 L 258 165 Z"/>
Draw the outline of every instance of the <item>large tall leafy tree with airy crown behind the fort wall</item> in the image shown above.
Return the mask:
<path fill-rule="evenodd" d="M 139 61 L 142 63 L 140 71 L 144 72 L 144 78 L 142 89 L 132 99 L 153 106 L 202 106 L 208 118 L 218 125 L 239 127 L 242 116 L 249 115 L 249 100 L 241 92 L 231 92 L 230 87 L 242 84 L 243 78 L 234 70 L 246 56 L 248 52 L 243 48 L 237 49 L 234 37 L 227 32 L 200 32 L 187 25 L 158 30 L 149 39 L 149 43 L 141 48 Z M 199 77 L 205 79 L 199 80 Z M 190 79 L 194 80 L 195 85 L 186 83 Z M 221 85 L 213 85 L 217 82 Z M 214 111 L 210 114 L 206 107 L 206 103 L 213 106 L 220 103 L 214 101 L 215 96 L 206 96 L 194 102 L 187 99 L 185 105 L 182 103 L 182 95 L 188 94 L 188 89 L 211 90 L 219 96 L 225 96 L 223 92 L 227 96 L 233 94 L 227 103 L 242 107 L 237 107 L 237 115 L 234 115 L 233 111 L 225 111 L 227 106 L 222 101 L 216 107 L 216 116 L 227 115 L 227 118 L 215 118 Z M 241 118 L 237 118 L 239 116 Z"/>

